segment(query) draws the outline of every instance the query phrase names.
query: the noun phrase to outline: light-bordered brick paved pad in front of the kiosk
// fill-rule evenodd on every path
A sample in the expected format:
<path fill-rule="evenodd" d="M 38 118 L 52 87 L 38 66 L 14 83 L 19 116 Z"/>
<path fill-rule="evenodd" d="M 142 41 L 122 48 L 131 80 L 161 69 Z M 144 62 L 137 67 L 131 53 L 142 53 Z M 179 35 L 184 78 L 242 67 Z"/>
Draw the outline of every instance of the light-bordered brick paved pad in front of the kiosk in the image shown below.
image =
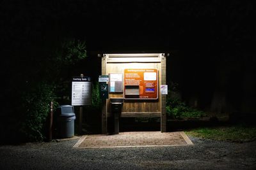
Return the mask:
<path fill-rule="evenodd" d="M 115 135 L 86 135 L 75 148 L 193 145 L 184 132 L 120 132 Z"/>

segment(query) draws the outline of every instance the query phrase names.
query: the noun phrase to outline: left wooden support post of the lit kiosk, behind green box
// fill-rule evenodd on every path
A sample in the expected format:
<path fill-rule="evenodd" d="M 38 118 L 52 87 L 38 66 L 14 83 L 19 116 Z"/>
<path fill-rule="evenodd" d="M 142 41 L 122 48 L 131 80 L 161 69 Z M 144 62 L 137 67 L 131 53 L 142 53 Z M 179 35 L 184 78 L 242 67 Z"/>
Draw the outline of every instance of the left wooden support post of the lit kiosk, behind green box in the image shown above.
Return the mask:
<path fill-rule="evenodd" d="M 101 74 L 106 75 L 107 74 L 107 56 L 104 54 L 101 59 Z M 102 111 L 101 111 L 101 132 L 102 134 L 107 134 L 107 105 L 106 105 L 106 99 L 103 99 L 102 101 Z"/>

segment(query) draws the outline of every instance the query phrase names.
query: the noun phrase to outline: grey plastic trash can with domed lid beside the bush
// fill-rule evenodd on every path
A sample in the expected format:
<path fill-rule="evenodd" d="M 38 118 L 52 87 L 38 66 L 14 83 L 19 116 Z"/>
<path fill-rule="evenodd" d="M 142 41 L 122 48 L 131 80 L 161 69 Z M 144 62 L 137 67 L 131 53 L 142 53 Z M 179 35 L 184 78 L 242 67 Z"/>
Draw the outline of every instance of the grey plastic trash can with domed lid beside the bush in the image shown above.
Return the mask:
<path fill-rule="evenodd" d="M 72 138 L 75 132 L 74 121 L 76 120 L 74 106 L 61 105 L 58 108 L 58 113 L 58 136 L 60 138 Z"/>

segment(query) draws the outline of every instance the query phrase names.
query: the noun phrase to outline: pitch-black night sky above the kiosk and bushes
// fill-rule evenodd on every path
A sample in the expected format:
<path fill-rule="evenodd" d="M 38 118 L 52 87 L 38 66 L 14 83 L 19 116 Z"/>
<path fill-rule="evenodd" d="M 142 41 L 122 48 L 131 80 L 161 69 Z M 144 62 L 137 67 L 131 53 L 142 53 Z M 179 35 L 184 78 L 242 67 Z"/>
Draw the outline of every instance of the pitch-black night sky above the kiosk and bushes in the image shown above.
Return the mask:
<path fill-rule="evenodd" d="M 86 41 L 89 57 L 97 52 L 172 53 L 168 81 L 179 82 L 188 99 L 197 93 L 210 103 L 211 97 L 204 96 L 216 89 L 255 83 L 253 1 L 10 0 L 1 1 L 0 11 L 1 68 L 10 70 L 1 71 L 6 79 L 33 72 L 29 64 L 37 67 L 63 38 L 75 38 Z M 92 60 L 86 67 L 99 66 L 98 59 L 88 64 Z M 86 69 L 92 73 L 92 67 Z M 244 78 L 248 73 L 252 76 Z M 239 75 L 238 85 L 234 75 Z"/>

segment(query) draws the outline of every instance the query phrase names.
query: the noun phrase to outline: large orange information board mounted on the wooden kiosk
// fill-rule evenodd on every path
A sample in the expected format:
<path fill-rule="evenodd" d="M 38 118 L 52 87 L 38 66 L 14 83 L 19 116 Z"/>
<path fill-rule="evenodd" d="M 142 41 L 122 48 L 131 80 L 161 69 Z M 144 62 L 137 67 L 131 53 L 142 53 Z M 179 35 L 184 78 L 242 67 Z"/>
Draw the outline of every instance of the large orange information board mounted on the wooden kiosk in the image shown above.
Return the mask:
<path fill-rule="evenodd" d="M 125 69 L 125 99 L 158 99 L 157 69 Z"/>

